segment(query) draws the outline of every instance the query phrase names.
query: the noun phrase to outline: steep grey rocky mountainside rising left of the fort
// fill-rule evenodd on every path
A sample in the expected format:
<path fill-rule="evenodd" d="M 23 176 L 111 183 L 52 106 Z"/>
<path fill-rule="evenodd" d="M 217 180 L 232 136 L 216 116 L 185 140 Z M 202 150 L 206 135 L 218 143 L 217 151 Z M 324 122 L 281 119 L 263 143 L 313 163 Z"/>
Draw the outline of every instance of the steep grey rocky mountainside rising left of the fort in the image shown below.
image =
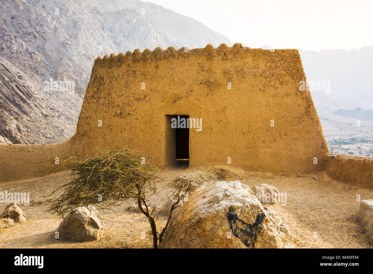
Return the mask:
<path fill-rule="evenodd" d="M 188 16 L 138 0 L 1 0 L 0 33 L 0 143 L 16 144 L 73 135 L 98 55 L 233 44 Z"/>

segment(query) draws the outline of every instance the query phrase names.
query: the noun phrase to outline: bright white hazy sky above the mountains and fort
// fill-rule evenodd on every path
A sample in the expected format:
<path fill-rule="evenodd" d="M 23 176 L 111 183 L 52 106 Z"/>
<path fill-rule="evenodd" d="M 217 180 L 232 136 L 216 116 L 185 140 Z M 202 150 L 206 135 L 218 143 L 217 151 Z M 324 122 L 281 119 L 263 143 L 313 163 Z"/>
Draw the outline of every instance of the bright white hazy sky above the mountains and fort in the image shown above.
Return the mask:
<path fill-rule="evenodd" d="M 373 1 L 149 0 L 248 47 L 351 50 L 373 45 Z M 214 45 L 217 47 L 218 45 Z"/>

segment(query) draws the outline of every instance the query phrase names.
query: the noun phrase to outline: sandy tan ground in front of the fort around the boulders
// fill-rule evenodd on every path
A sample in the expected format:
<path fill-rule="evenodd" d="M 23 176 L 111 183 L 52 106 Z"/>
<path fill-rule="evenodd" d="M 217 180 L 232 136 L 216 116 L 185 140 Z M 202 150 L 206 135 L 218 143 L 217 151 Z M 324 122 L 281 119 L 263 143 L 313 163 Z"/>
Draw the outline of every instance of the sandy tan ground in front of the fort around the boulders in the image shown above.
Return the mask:
<path fill-rule="evenodd" d="M 296 248 L 372 248 L 364 228 L 357 219 L 361 199 L 373 198 L 373 189 L 355 188 L 317 174 L 271 174 L 242 170 L 209 170 L 221 180 L 240 180 L 248 186 L 267 183 L 286 192 L 286 205 L 270 205 L 285 221 L 297 237 Z M 198 172 L 198 169 L 173 168 L 164 171 L 166 178 L 149 200 L 164 204 L 169 179 L 182 173 Z M 305 177 L 297 177 L 305 176 Z M 316 175 L 319 181 L 313 176 Z M 45 201 L 43 197 L 69 180 L 69 172 L 60 172 L 33 179 L 0 182 L 0 192 L 30 192 L 30 200 Z M 6 204 L 0 204 L 0 210 Z M 54 230 L 61 219 L 45 210 L 46 204 L 24 206 L 26 223 L 0 229 L 1 248 L 152 248 L 152 237 L 147 218 L 140 213 L 126 211 L 129 204 L 116 207 L 116 212 L 102 211 L 104 236 L 99 241 L 75 243 L 54 239 Z M 163 228 L 166 217 L 160 217 L 158 227 Z M 145 232 L 145 239 L 141 237 Z"/>

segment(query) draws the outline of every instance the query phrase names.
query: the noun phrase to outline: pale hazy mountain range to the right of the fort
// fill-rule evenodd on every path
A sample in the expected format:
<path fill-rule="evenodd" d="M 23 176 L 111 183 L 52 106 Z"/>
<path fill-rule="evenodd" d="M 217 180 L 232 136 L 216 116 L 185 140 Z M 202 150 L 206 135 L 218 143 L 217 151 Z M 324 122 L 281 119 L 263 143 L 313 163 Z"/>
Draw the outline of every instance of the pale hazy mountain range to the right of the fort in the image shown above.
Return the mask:
<path fill-rule="evenodd" d="M 350 51 L 299 50 L 307 81 L 327 81 L 327 92 L 311 91 L 326 139 L 373 137 L 373 46 Z M 357 126 L 357 119 L 361 120 Z"/>

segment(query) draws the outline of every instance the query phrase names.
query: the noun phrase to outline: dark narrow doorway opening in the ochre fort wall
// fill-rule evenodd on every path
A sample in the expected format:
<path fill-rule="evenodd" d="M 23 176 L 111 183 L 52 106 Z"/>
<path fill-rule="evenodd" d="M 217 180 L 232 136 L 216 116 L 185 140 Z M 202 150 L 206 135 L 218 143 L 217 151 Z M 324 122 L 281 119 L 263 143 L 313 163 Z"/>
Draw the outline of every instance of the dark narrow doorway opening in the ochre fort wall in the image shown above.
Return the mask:
<path fill-rule="evenodd" d="M 180 115 L 180 121 L 182 119 L 189 120 L 188 115 Z M 178 115 L 175 118 L 179 120 Z M 182 125 L 182 123 L 180 123 Z M 186 122 L 184 123 L 186 125 Z M 189 128 L 176 127 L 175 129 L 175 141 L 176 141 L 176 163 L 182 167 L 189 166 Z"/>

